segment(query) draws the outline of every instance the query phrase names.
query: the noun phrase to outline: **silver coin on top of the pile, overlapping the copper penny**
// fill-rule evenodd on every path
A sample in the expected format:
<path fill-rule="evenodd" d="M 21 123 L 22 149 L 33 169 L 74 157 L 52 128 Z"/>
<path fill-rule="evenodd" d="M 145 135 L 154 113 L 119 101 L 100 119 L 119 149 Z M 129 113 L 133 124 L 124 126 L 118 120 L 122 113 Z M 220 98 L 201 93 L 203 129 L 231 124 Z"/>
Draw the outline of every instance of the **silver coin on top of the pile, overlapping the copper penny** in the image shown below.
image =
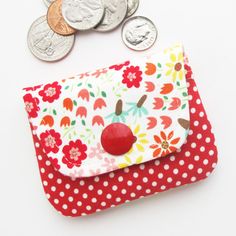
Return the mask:
<path fill-rule="evenodd" d="M 63 0 L 62 15 L 74 29 L 89 30 L 102 20 L 104 5 L 102 0 Z"/>

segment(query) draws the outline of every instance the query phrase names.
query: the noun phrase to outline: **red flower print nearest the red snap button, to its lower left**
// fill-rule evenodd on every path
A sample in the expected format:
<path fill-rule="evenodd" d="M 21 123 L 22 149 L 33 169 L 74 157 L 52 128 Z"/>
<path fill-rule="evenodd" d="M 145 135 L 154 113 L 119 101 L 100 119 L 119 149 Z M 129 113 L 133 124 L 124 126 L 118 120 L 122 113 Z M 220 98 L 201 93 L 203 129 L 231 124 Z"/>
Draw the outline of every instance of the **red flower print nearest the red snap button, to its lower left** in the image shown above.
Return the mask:
<path fill-rule="evenodd" d="M 77 141 L 70 141 L 69 145 L 66 145 L 62 152 L 64 156 L 62 162 L 72 169 L 74 166 L 80 167 L 82 161 L 87 158 L 87 146 L 83 144 L 79 139 Z"/>

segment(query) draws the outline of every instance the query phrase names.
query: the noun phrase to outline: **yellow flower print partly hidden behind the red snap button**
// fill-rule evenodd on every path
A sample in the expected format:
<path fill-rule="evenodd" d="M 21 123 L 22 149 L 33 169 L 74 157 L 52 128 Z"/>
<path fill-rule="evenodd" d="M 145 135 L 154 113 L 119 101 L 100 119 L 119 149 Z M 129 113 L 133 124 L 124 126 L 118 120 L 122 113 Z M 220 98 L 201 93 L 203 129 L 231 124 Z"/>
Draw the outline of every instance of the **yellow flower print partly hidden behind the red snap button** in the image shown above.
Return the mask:
<path fill-rule="evenodd" d="M 125 168 L 127 166 L 130 166 L 132 164 L 140 164 L 143 162 L 143 155 L 141 153 L 145 152 L 145 145 L 148 144 L 148 140 L 146 139 L 147 134 L 142 133 L 141 126 L 137 125 L 133 131 L 133 134 L 135 137 L 137 137 L 137 141 L 133 145 L 133 147 L 130 149 L 130 151 L 124 156 L 124 162 L 121 164 L 118 164 L 119 168 Z M 138 157 L 131 157 L 131 154 L 134 152 L 137 152 Z M 139 155 L 139 153 L 141 155 Z"/>

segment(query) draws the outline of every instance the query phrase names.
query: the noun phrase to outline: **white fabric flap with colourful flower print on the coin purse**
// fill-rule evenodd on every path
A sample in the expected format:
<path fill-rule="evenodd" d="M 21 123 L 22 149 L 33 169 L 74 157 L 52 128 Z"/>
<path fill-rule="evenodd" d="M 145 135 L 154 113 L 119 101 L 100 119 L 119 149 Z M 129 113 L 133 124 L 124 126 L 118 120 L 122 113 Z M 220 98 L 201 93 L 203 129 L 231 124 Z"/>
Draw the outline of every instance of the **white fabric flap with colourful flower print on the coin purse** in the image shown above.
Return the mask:
<path fill-rule="evenodd" d="M 183 48 L 26 88 L 24 102 L 36 145 L 66 176 L 91 177 L 164 157 L 181 148 L 189 130 Z M 124 149 L 129 139 L 116 139 L 113 147 L 102 136 L 106 129 L 108 136 L 121 132 L 119 125 L 132 143 L 114 155 L 108 150 Z"/>

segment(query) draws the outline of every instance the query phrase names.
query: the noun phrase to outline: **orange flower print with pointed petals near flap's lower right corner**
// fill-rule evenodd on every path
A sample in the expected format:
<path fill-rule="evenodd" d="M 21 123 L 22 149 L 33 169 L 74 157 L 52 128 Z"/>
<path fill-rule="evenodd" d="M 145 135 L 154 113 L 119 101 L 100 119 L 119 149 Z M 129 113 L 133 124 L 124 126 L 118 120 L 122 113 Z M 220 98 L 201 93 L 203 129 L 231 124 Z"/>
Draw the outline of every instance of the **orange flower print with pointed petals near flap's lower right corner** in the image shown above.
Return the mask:
<path fill-rule="evenodd" d="M 160 137 L 155 135 L 154 140 L 156 144 L 150 146 L 150 148 L 155 149 L 153 152 L 153 157 L 164 157 L 177 150 L 175 145 L 179 142 L 180 138 L 173 138 L 174 131 L 171 131 L 166 135 L 163 131 L 160 133 Z"/>

